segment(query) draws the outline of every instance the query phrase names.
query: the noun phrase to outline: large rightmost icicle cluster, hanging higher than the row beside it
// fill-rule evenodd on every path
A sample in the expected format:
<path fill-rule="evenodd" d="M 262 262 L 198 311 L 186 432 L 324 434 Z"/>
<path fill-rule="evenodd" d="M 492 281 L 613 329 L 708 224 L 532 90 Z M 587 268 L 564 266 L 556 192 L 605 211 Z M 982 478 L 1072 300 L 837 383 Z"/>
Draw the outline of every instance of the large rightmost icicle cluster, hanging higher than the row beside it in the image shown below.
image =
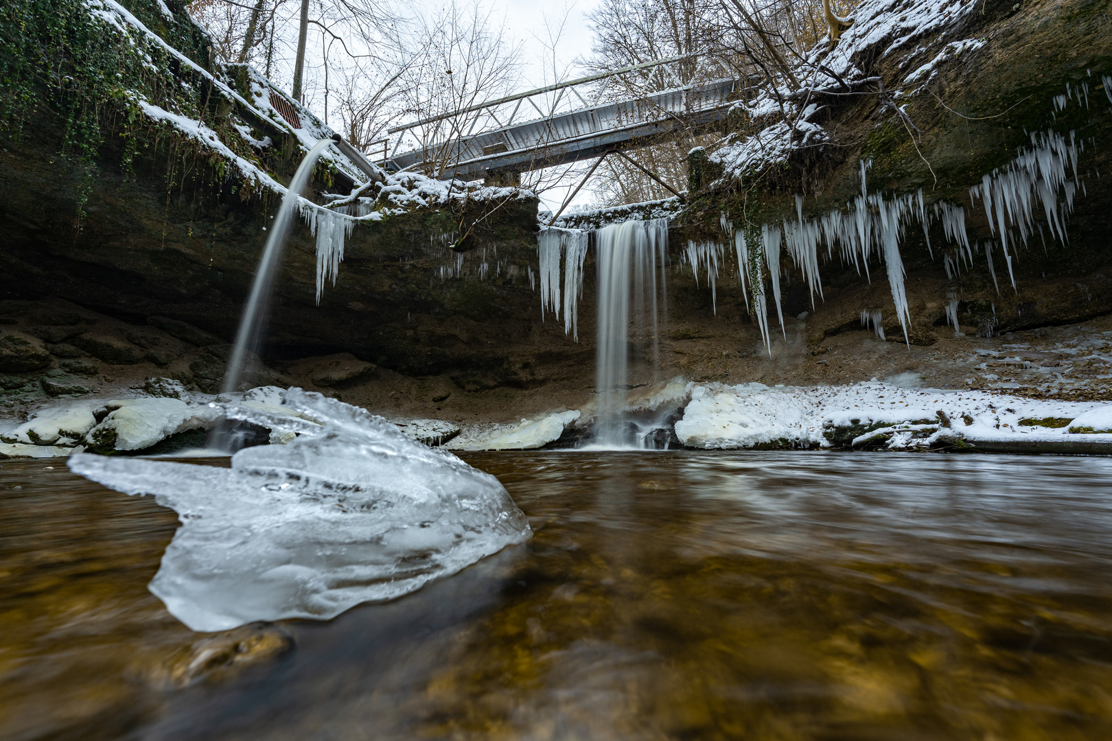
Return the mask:
<path fill-rule="evenodd" d="M 1072 180 L 1066 176 L 1066 166 L 1072 172 Z M 989 228 L 1000 239 L 1013 290 L 1017 291 L 1012 271 L 1012 253 L 1017 243 L 1026 247 L 1027 239 L 1033 233 L 1035 221 L 1032 212 L 1035 201 L 1042 202 L 1051 237 L 1065 244 L 1065 220 L 1073 212 L 1073 197 L 1080 188 L 1078 142 L 1073 131 L 1070 132 L 1069 142 L 1055 131 L 1032 133 L 1031 149 L 1021 151 L 1014 160 L 984 176 L 981 184 L 970 188 L 970 200 L 981 200 Z M 1059 199 L 1063 200 L 1060 202 Z M 1037 228 L 1041 234 L 1042 226 L 1039 224 Z M 990 249 L 991 247 L 985 247 L 985 256 L 995 280 Z"/>

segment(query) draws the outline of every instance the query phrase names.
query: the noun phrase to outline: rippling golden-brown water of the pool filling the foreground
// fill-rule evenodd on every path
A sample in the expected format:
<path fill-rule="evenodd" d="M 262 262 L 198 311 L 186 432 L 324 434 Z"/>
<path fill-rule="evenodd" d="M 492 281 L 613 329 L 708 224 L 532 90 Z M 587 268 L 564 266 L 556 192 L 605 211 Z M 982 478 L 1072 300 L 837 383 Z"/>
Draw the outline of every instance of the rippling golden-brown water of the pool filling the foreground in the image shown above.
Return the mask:
<path fill-rule="evenodd" d="M 1112 739 L 1110 460 L 466 458 L 532 542 L 246 641 L 146 591 L 171 511 L 4 462 L 0 739 Z"/>

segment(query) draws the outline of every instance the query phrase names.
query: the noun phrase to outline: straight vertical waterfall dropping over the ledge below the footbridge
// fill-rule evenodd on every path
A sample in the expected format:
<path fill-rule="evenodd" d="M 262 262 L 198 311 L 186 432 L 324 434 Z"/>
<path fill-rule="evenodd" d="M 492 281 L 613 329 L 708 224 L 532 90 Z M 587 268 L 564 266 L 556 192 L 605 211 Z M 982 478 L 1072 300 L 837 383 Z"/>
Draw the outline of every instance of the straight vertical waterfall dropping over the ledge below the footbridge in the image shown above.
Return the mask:
<path fill-rule="evenodd" d="M 625 448 L 636 442 L 625 419 L 629 390 L 629 332 L 635 356 L 648 380 L 658 380 L 659 319 L 657 292 L 665 292 L 664 267 L 668 221 L 626 221 L 596 232 L 598 250 L 598 348 L 595 442 Z M 657 281 L 659 269 L 659 281 Z M 666 307 L 665 307 L 666 310 Z M 649 351 L 646 351 L 651 347 Z"/>

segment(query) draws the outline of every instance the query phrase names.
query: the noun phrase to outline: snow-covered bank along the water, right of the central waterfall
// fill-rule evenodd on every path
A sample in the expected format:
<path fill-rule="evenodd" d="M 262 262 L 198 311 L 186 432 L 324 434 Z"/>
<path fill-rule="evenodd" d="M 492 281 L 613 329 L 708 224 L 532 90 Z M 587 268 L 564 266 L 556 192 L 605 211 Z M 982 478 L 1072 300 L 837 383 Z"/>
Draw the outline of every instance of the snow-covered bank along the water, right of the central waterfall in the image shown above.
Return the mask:
<path fill-rule="evenodd" d="M 1112 453 L 1112 403 L 884 382 L 774 388 L 691 384 L 676 422 L 688 448 L 852 448 Z"/>

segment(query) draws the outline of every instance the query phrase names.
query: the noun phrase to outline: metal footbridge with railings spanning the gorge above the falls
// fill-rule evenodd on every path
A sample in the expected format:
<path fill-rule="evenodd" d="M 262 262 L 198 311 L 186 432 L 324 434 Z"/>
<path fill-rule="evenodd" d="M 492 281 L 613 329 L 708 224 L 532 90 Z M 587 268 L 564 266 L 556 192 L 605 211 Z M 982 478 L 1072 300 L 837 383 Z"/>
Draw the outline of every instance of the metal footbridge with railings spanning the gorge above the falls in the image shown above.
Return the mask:
<path fill-rule="evenodd" d="M 600 83 L 608 78 L 644 77 L 652 70 L 657 80 L 662 73 L 671 74 L 664 79 L 678 83 L 678 76 L 665 67 L 674 62 L 687 62 L 691 69 L 694 59 L 686 56 L 654 60 L 395 127 L 388 133 L 400 136 L 384 163 L 390 170 L 420 168 L 438 178 L 516 177 L 645 146 L 669 134 L 702 130 L 725 119 L 741 83 L 734 78 L 707 81 L 707 70 L 699 82 L 644 94 L 627 93 L 616 101 L 602 100 L 607 87 Z M 712 74 L 718 71 L 714 67 Z M 718 69 L 719 73 L 726 72 Z M 593 88 L 598 90 L 594 96 Z M 588 97 L 594 100 L 588 101 Z M 515 122 L 523 109 L 539 116 Z M 460 130 L 465 126 L 466 133 Z M 397 150 L 406 141 L 417 146 L 399 153 Z"/>

